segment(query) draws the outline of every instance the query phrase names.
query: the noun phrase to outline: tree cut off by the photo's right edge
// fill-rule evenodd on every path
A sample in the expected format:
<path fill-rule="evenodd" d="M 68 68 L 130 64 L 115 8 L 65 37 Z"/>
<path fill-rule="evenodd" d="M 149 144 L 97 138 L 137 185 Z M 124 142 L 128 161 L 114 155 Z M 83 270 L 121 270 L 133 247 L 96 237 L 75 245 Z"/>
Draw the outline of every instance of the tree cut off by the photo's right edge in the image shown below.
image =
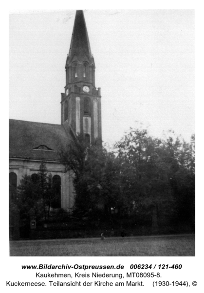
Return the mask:
<path fill-rule="evenodd" d="M 171 157 L 171 188 L 177 201 L 177 221 L 184 225 L 195 224 L 195 135 L 190 143 L 176 138 L 174 133 L 167 139 L 166 147 Z"/>

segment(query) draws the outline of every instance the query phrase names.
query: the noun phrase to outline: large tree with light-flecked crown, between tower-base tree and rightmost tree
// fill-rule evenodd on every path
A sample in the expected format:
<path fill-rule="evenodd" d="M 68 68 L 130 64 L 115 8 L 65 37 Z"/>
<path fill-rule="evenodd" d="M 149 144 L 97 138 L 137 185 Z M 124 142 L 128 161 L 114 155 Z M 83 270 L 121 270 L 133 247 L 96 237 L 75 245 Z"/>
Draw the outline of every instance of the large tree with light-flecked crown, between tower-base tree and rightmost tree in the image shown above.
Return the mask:
<path fill-rule="evenodd" d="M 140 217 L 151 216 L 154 230 L 158 229 L 159 217 L 171 220 L 178 215 L 177 189 L 181 185 L 185 187 L 182 190 L 186 199 L 187 174 L 191 176 L 193 186 L 194 175 L 189 172 L 189 164 L 193 169 L 190 146 L 171 134 L 173 132 L 166 140 L 160 140 L 150 137 L 147 129 L 130 128 L 115 145 L 127 209 Z M 192 188 L 190 193 L 193 197 Z"/>

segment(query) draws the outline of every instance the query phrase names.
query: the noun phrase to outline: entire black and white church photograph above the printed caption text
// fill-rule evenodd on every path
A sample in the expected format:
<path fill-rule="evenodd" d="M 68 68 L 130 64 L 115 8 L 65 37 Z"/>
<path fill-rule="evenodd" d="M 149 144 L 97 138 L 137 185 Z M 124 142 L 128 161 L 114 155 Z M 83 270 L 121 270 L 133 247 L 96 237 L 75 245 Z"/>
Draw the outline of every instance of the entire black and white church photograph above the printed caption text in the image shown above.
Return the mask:
<path fill-rule="evenodd" d="M 10 12 L 9 243 L 195 256 L 194 9 Z"/>

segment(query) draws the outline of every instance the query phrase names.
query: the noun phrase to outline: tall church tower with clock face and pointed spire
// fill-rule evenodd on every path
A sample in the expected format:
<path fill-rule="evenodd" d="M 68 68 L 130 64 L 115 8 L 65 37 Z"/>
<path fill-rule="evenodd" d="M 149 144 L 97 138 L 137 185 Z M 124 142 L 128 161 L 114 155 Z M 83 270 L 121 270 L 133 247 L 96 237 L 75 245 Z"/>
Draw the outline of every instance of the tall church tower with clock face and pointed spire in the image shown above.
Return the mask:
<path fill-rule="evenodd" d="M 101 93 L 95 87 L 95 64 L 82 10 L 77 10 L 65 65 L 65 93 L 61 94 L 61 124 L 90 143 L 102 140 Z"/>

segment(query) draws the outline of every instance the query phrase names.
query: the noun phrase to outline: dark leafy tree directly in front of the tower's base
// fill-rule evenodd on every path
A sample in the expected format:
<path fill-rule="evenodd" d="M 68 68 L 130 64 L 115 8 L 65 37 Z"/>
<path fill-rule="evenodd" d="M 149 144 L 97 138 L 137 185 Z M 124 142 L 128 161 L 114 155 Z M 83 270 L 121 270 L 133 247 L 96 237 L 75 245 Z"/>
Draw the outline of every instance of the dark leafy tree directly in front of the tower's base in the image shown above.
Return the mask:
<path fill-rule="evenodd" d="M 92 144 L 78 135 L 60 151 L 65 172 L 72 171 L 75 188 L 74 212 L 86 217 L 111 219 L 111 208 L 120 201 L 118 165 L 113 153 L 96 140 Z"/>

